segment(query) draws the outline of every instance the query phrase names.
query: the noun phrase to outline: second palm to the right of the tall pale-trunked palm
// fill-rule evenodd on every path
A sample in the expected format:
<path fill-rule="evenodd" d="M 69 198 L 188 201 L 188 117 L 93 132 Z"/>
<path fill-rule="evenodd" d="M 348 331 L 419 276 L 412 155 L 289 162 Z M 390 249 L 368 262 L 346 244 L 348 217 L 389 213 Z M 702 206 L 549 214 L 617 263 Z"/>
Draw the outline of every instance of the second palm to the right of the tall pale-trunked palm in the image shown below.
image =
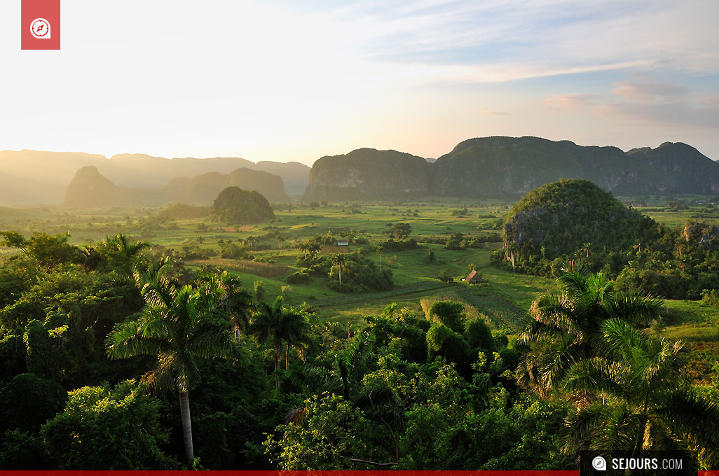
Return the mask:
<path fill-rule="evenodd" d="M 273 304 L 260 303 L 258 314 L 250 327 L 250 332 L 256 335 L 259 340 L 269 341 L 273 345 L 275 353 L 275 388 L 280 388 L 280 362 L 282 361 L 282 343 L 287 342 L 285 354 L 285 368 L 289 362 L 290 345 L 308 342 L 309 324 L 305 320 L 305 314 L 295 309 L 283 306 L 284 298 L 278 296 Z"/>

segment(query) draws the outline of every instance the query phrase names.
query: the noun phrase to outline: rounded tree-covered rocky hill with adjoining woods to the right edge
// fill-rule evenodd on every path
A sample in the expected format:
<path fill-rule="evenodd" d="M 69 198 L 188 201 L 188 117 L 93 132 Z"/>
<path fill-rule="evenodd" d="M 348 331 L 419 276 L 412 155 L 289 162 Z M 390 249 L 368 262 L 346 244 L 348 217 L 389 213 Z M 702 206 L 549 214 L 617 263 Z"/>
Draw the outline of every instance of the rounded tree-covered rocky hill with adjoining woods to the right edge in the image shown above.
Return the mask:
<path fill-rule="evenodd" d="M 717 225 L 659 225 L 584 180 L 533 190 L 510 210 L 504 232 L 493 256 L 500 266 L 557 276 L 564 263 L 582 264 L 616 277 L 620 289 L 669 299 L 719 289 Z"/>

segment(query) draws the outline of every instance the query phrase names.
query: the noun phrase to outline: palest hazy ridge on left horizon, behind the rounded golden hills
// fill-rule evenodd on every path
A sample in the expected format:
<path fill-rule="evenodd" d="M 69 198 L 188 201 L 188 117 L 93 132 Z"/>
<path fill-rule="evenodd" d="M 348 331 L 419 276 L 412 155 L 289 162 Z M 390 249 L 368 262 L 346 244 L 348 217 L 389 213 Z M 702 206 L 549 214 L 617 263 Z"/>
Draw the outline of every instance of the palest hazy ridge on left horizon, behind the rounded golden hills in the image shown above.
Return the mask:
<path fill-rule="evenodd" d="M 285 190 L 293 194 L 306 190 L 310 173 L 310 167 L 299 162 L 255 164 L 237 157 L 165 159 L 145 154 L 118 154 L 108 159 L 82 152 L 0 151 L 0 204 L 60 203 L 75 172 L 88 166 L 96 167 L 99 174 L 114 185 L 135 189 L 158 189 L 178 177 L 191 179 L 209 172 L 231 174 L 244 167 L 279 176 Z"/>

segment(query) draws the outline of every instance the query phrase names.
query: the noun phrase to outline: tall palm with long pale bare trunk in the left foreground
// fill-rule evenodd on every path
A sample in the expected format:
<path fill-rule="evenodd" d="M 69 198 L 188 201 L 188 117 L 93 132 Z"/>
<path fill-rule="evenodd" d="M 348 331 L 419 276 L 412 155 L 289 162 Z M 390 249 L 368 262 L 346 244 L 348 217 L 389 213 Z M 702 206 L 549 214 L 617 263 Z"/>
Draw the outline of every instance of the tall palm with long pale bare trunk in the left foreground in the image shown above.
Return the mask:
<path fill-rule="evenodd" d="M 142 286 L 145 308 L 137 320 L 115 327 L 106 338 L 106 350 L 110 358 L 157 355 L 147 381 L 155 388 L 169 384 L 178 388 L 186 462 L 192 467 L 189 391 L 200 381 L 199 360 L 245 357 L 227 323 L 215 312 L 222 296 L 219 282 L 179 286 L 165 276 L 167 263 L 164 259 L 139 267 L 135 276 Z"/>

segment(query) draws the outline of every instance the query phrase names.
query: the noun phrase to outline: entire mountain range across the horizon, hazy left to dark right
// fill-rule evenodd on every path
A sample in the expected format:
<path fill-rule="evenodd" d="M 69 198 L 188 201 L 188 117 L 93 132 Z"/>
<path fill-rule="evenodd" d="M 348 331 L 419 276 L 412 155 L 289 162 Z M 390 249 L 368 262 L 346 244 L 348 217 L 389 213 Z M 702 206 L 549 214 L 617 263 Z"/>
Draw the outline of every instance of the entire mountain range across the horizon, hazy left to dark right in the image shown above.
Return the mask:
<path fill-rule="evenodd" d="M 75 172 L 83 167 L 95 167 L 112 187 L 132 190 L 135 201 L 142 197 L 153 203 L 184 198 L 207 202 L 215 187 L 232 182 L 227 176 L 238 169 L 280 177 L 281 192 L 261 176 L 272 201 L 287 200 L 286 193 L 304 193 L 306 200 L 422 195 L 515 199 L 560 178 L 587 179 L 615 195 L 719 195 L 719 163 L 682 142 L 624 152 L 612 146 L 579 146 L 531 136 L 492 136 L 462 141 L 434 160 L 365 148 L 321 157 L 312 168 L 299 162 L 255 164 L 237 157 L 165 159 L 118 154 L 107 159 L 85 153 L 0 151 L 0 205 L 59 204 Z M 78 183 L 93 182 L 93 177 L 83 172 Z M 247 187 L 245 177 L 248 172 L 234 174 L 229 185 Z M 208 191 L 203 182 L 209 184 Z M 78 187 L 73 185 L 75 190 Z M 118 192 L 119 196 L 127 195 L 127 190 Z"/>

